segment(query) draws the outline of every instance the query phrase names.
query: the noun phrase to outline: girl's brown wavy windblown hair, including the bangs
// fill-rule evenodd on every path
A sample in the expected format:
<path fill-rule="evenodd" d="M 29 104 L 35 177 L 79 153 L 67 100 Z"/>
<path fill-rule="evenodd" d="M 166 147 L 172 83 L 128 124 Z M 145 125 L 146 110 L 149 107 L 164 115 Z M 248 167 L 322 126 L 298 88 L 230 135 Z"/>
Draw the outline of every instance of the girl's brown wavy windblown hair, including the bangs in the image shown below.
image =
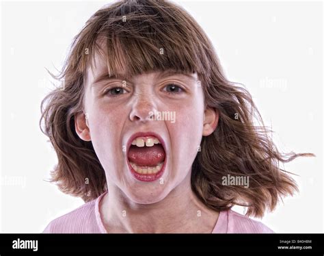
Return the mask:
<path fill-rule="evenodd" d="M 107 52 L 100 42 L 105 42 Z M 226 79 L 200 25 L 178 5 L 154 0 L 118 1 L 98 10 L 72 41 L 62 71 L 51 74 L 63 87 L 42 101 L 40 127 L 57 153 L 50 181 L 60 190 L 85 202 L 107 190 L 92 142 L 81 140 L 75 131 L 75 115 L 83 112 L 87 68 L 95 53 L 106 57 L 109 76 L 120 68 L 129 75 L 169 69 L 198 74 L 206 107 L 219 112 L 217 129 L 202 138 L 192 168 L 191 188 L 206 206 L 219 211 L 243 205 L 247 215 L 260 217 L 282 196 L 297 191 L 280 163 L 314 155 L 280 153 L 249 92 Z M 222 185 L 227 175 L 249 177 L 249 188 Z"/>

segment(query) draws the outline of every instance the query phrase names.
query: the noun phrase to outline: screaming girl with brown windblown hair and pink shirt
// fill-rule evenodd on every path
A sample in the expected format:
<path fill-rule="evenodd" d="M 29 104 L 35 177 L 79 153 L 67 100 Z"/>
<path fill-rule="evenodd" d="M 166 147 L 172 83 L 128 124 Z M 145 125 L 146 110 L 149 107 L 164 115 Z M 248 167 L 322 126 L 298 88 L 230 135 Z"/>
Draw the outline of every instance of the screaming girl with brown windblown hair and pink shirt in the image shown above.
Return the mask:
<path fill-rule="evenodd" d="M 64 86 L 42 102 L 58 157 L 51 181 L 86 203 L 44 233 L 273 233 L 248 216 L 297 190 L 280 162 L 311 154 L 278 151 L 185 10 L 105 6 L 55 78 Z"/>

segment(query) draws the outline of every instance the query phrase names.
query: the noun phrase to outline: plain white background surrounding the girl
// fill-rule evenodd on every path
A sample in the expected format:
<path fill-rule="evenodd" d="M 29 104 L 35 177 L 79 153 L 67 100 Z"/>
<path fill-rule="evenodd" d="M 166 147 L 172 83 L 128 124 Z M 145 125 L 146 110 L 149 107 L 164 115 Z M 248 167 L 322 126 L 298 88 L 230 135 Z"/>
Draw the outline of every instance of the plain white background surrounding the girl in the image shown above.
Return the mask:
<path fill-rule="evenodd" d="M 323 233 L 323 3 L 176 1 L 211 38 L 230 81 L 252 93 L 300 192 L 262 222 L 277 233 Z M 0 232 L 39 233 L 83 204 L 44 180 L 56 155 L 38 127 L 73 36 L 105 2 L 1 3 Z M 235 207 L 239 212 L 242 209 Z"/>

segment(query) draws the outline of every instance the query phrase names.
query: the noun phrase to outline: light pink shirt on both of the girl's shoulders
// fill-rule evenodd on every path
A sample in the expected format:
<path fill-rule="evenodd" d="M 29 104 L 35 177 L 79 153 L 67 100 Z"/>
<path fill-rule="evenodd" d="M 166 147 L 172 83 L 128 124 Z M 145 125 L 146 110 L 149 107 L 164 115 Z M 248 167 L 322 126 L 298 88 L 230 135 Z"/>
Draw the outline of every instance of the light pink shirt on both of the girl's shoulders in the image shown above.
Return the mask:
<path fill-rule="evenodd" d="M 85 203 L 74 211 L 52 220 L 43 233 L 107 233 L 100 217 L 98 199 Z M 274 233 L 261 222 L 232 211 L 219 212 L 212 233 Z"/>

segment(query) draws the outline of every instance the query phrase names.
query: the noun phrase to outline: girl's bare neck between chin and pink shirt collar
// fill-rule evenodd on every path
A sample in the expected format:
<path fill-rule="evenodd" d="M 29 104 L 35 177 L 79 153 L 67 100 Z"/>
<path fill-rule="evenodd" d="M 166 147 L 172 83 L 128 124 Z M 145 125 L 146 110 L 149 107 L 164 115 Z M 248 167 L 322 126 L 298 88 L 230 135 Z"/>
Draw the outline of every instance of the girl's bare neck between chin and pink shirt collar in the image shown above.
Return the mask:
<path fill-rule="evenodd" d="M 138 204 L 113 184 L 100 206 L 109 233 L 211 233 L 218 218 L 191 190 L 191 172 L 162 201 Z"/>

